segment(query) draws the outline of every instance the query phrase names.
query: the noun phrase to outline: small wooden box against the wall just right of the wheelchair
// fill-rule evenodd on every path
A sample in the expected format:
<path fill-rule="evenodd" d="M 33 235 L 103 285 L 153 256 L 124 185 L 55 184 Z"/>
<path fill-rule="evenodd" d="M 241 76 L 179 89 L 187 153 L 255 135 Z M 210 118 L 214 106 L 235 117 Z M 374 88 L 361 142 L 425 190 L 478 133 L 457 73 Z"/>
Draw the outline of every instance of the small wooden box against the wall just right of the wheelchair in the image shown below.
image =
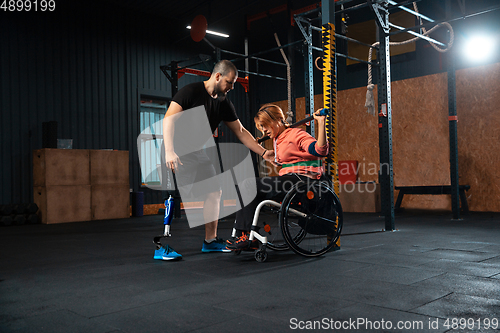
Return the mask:
<path fill-rule="evenodd" d="M 339 199 L 342 210 L 350 213 L 380 212 L 380 184 L 341 184 Z"/>

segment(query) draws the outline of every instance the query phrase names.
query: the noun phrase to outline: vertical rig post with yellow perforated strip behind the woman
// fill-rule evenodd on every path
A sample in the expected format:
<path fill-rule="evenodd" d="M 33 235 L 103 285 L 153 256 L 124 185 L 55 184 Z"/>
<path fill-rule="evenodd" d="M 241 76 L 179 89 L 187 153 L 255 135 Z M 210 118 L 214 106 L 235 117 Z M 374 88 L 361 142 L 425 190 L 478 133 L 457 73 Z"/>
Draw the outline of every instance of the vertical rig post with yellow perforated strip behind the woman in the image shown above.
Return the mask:
<path fill-rule="evenodd" d="M 330 110 L 326 117 L 326 134 L 330 154 L 326 159 L 327 170 L 339 194 L 338 131 L 337 131 L 337 61 L 335 57 L 335 2 L 321 2 L 321 39 L 323 45 L 323 107 Z"/>

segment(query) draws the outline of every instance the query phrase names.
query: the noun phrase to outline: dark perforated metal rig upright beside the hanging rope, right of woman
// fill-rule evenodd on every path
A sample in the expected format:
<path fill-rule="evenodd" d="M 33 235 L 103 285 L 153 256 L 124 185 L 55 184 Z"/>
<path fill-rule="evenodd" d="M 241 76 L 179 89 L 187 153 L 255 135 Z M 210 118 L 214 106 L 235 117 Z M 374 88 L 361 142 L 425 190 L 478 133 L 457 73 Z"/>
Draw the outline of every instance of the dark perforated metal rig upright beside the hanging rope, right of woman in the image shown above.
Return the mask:
<path fill-rule="evenodd" d="M 378 26 L 380 47 L 378 80 L 378 127 L 380 149 L 380 197 L 385 230 L 395 229 L 394 222 L 394 173 L 392 165 L 392 107 L 391 107 L 391 59 L 389 53 L 389 11 L 387 1 L 371 3 Z"/>

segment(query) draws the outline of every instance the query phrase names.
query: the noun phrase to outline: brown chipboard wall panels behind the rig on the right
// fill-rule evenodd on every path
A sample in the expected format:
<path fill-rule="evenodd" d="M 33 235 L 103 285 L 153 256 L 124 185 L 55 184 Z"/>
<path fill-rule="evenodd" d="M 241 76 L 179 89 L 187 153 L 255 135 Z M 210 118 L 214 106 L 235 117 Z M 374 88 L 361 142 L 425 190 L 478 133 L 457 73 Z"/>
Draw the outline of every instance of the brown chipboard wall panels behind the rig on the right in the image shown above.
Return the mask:
<path fill-rule="evenodd" d="M 460 185 L 471 211 L 500 211 L 500 63 L 456 72 Z M 376 103 L 376 89 L 374 90 Z M 337 93 L 339 160 L 358 160 L 359 180 L 378 182 L 378 117 L 366 113 L 366 88 Z M 323 96 L 314 96 L 315 109 Z M 287 101 L 277 102 L 286 109 Z M 304 98 L 296 101 L 304 117 Z M 446 73 L 392 82 L 394 185 L 449 185 Z M 376 166 L 376 172 L 374 172 Z M 398 191 L 395 191 L 395 198 Z M 451 210 L 446 195 L 407 195 L 402 207 Z"/>

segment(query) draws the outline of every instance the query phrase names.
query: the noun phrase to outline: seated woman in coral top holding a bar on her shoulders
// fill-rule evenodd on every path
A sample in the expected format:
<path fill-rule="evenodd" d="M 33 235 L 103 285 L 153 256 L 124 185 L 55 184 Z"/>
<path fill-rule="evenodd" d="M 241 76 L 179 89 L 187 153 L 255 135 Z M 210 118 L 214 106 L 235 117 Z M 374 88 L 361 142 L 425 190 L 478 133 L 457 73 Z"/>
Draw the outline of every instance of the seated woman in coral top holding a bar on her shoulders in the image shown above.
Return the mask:
<path fill-rule="evenodd" d="M 257 196 L 247 206 L 236 213 L 235 229 L 239 237 L 228 240 L 227 247 L 233 250 L 257 249 L 257 240 L 249 241 L 254 212 L 259 202 L 266 199 L 283 200 L 285 195 L 299 181 L 306 183 L 317 180 L 328 181 L 324 176 L 322 158 L 328 155 L 325 116 L 314 113 L 318 128 L 318 139 L 301 128 L 292 128 L 285 121 L 281 108 L 277 105 L 262 106 L 254 118 L 255 126 L 263 136 L 273 140 L 275 163 L 281 165 L 278 177 L 257 178 Z M 244 190 L 244 189 L 240 189 Z"/>

